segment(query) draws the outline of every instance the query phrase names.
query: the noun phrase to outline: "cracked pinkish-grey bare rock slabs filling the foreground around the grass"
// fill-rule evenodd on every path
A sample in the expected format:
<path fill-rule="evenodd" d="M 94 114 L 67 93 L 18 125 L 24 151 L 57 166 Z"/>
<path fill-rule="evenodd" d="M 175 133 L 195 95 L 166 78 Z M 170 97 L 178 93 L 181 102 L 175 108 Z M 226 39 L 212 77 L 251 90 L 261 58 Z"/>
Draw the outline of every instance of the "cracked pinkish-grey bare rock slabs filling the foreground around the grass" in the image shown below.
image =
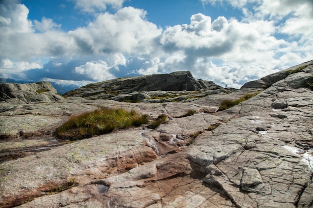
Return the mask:
<path fill-rule="evenodd" d="M 313 91 L 306 83 L 313 82 L 312 63 L 255 81 L 271 80 L 266 89 L 257 84 L 186 103 L 1 104 L 0 153 L 15 157 L 1 160 L 0 207 L 311 208 Z M 258 91 L 216 112 L 222 100 Z M 99 106 L 134 109 L 151 120 L 165 114 L 167 123 L 75 142 L 53 138 L 69 116 Z M 49 148 L 16 155 L 40 146 Z"/>

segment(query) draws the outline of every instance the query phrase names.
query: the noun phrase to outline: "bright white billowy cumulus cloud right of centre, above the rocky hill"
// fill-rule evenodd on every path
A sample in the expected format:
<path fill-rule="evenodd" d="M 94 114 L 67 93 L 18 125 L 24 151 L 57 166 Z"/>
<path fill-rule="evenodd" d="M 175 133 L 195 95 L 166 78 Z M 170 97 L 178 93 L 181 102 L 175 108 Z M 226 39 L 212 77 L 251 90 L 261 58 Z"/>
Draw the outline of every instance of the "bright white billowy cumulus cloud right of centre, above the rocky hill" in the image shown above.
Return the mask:
<path fill-rule="evenodd" d="M 222 22 L 218 27 L 217 21 Z M 221 36 L 214 28 L 222 30 L 226 25 L 224 17 L 218 17 L 214 27 L 209 16 L 194 14 L 190 18 L 190 24 L 167 27 L 161 35 L 160 44 L 165 49 L 184 50 L 186 53 L 197 53 L 200 57 L 218 56 L 229 51 L 231 45 L 228 38 Z"/>

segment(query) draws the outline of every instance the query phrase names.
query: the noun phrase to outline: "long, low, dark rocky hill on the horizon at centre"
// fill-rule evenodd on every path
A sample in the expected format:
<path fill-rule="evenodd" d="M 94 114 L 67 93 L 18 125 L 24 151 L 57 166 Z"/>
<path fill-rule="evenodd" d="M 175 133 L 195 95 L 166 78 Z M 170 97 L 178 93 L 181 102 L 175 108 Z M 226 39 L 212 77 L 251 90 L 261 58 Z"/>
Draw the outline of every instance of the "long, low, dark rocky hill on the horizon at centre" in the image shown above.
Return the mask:
<path fill-rule="evenodd" d="M 92 83 L 66 92 L 64 96 L 132 102 L 142 100 L 145 102 L 189 102 L 194 97 L 231 91 L 233 90 L 224 89 L 211 81 L 195 80 L 190 71 L 177 71 L 170 74 L 124 77 Z M 155 99 L 156 97 L 158 99 Z"/>

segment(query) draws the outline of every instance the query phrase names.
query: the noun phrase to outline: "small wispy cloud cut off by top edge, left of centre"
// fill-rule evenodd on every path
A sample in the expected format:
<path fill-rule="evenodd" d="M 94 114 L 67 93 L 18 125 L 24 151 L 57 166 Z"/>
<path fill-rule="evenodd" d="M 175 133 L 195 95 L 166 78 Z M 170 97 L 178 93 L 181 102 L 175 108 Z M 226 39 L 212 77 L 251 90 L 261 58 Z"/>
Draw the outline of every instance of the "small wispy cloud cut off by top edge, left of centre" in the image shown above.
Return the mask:
<path fill-rule="evenodd" d="M 72 0 L 75 3 L 75 7 L 81 9 L 84 12 L 97 12 L 105 11 L 107 6 L 111 6 L 114 9 L 121 8 L 124 0 Z"/>

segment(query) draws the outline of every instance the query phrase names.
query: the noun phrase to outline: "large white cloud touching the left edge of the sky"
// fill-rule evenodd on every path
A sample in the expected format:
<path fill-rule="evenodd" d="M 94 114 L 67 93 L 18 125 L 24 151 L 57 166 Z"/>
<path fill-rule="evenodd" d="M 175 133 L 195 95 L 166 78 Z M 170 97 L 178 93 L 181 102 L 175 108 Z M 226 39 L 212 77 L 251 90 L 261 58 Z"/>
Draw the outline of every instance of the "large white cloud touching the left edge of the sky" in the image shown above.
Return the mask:
<path fill-rule="evenodd" d="M 42 18 L 32 24 L 28 16 L 28 8 L 23 4 L 0 4 L 2 19 L 0 29 L 0 60 L 10 59 L 28 61 L 45 56 L 64 56 L 73 53 L 75 45 L 66 33 L 56 31 L 59 25 L 51 19 Z M 36 33 L 35 29 L 44 31 Z"/>

